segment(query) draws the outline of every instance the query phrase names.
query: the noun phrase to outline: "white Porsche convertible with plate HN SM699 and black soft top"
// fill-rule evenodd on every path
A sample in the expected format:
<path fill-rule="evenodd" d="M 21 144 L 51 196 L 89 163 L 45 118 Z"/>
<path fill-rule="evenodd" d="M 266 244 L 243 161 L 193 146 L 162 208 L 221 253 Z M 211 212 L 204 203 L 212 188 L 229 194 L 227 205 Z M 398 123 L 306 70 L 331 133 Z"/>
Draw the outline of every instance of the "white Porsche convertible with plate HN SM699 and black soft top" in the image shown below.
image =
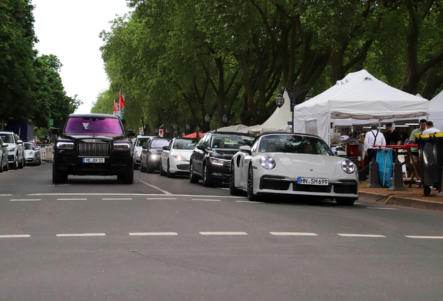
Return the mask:
<path fill-rule="evenodd" d="M 229 190 L 233 195 L 244 190 L 251 201 L 266 194 L 289 194 L 352 206 L 359 181 L 355 164 L 334 156 L 320 137 L 267 132 L 233 156 Z"/>

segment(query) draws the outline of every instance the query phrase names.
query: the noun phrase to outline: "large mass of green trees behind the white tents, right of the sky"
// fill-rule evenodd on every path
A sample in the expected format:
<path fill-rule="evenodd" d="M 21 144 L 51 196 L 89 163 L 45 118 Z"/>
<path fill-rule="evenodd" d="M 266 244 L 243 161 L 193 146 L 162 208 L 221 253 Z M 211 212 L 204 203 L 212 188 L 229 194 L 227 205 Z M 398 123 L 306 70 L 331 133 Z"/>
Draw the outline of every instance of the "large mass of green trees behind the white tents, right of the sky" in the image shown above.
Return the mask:
<path fill-rule="evenodd" d="M 263 123 L 279 84 L 315 95 L 362 68 L 428 98 L 443 83 L 441 1 L 128 2 L 134 13 L 101 34 L 111 87 L 94 111 L 124 91 L 132 128 L 189 121 L 205 131 L 206 114 Z"/>

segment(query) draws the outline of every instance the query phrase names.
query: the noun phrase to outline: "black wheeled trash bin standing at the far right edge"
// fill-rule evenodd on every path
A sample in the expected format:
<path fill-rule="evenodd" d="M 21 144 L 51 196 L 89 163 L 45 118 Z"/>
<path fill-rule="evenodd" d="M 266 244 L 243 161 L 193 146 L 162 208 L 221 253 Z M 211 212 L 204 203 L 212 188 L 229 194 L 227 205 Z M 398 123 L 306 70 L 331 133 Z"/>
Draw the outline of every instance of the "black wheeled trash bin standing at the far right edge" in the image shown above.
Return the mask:
<path fill-rule="evenodd" d="M 440 190 L 443 167 L 443 133 L 423 135 L 416 134 L 420 157 L 420 179 L 423 193 L 430 194 L 430 187 Z"/>

